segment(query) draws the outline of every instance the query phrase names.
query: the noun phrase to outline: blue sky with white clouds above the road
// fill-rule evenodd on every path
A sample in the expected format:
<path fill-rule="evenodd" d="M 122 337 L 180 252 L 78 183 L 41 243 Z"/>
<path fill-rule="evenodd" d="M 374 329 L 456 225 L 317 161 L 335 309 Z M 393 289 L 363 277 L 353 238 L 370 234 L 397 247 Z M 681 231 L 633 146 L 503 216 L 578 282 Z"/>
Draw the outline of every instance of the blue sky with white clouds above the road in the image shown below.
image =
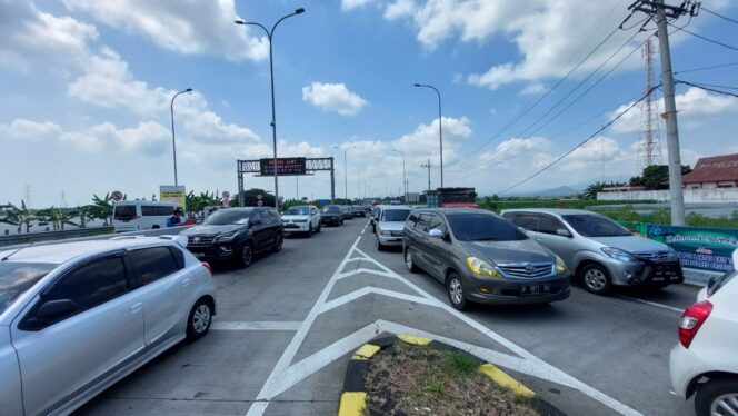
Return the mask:
<path fill-rule="evenodd" d="M 0 201 L 158 195 L 174 182 L 170 103 L 187 88 L 173 106 L 179 184 L 235 194 L 236 160 L 271 157 L 272 131 L 269 40 L 233 20 L 271 28 L 299 7 L 272 38 L 278 156 L 333 157 L 338 198 L 400 194 L 403 159 L 410 191 L 428 188 L 428 161 L 440 186 L 438 97 L 415 83 L 442 97 L 447 187 L 500 194 L 589 137 L 508 195 L 627 180 L 644 167 L 641 107 L 596 132 L 644 95 L 640 44 L 658 43 L 654 23 L 638 32 L 644 14 L 616 30 L 630 2 L 0 0 Z M 702 3 L 738 18 L 738 2 Z M 738 24 L 705 10 L 674 23 L 738 47 Z M 677 79 L 736 91 L 738 66 L 689 71 L 736 50 L 670 31 Z M 738 98 L 680 83 L 676 102 L 684 164 L 738 152 Z M 271 192 L 273 179 L 246 187 Z M 330 198 L 330 175 L 280 178 L 279 194 Z"/>

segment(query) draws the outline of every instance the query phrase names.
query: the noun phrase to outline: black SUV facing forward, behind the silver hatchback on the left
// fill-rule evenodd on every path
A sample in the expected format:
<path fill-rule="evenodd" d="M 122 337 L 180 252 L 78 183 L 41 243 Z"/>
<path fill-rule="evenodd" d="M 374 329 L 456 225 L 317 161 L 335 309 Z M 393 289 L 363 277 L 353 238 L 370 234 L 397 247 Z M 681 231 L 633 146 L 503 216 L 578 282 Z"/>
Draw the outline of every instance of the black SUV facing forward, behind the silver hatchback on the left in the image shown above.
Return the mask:
<path fill-rule="evenodd" d="M 281 250 L 285 240 L 279 214 L 266 207 L 221 209 L 181 234 L 200 260 L 235 260 L 241 267 L 249 267 L 258 252 Z"/>

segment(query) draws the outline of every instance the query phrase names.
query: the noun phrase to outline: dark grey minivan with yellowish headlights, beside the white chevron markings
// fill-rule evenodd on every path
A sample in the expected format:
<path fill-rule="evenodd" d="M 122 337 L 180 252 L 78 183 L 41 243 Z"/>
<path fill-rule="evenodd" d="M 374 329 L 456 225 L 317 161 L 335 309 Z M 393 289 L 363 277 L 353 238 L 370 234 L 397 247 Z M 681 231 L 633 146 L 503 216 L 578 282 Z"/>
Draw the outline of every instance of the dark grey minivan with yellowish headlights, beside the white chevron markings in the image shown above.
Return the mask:
<path fill-rule="evenodd" d="M 473 208 L 417 209 L 403 229 L 405 264 L 446 285 L 451 306 L 541 304 L 569 297 L 564 261 L 507 219 Z"/>

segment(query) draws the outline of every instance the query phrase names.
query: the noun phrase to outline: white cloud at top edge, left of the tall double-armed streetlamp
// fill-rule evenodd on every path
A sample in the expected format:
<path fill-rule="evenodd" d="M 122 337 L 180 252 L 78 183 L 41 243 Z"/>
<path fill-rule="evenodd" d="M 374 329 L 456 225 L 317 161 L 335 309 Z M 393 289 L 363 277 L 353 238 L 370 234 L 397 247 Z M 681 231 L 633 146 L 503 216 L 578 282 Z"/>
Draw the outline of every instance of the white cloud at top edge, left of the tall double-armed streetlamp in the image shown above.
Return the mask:
<path fill-rule="evenodd" d="M 180 53 L 220 56 L 232 61 L 262 60 L 269 55 L 266 37 L 251 37 L 251 29 L 233 23 L 239 19 L 233 0 L 63 0 L 63 3 L 71 11 L 90 13 L 107 26 L 144 36 L 159 47 Z"/>

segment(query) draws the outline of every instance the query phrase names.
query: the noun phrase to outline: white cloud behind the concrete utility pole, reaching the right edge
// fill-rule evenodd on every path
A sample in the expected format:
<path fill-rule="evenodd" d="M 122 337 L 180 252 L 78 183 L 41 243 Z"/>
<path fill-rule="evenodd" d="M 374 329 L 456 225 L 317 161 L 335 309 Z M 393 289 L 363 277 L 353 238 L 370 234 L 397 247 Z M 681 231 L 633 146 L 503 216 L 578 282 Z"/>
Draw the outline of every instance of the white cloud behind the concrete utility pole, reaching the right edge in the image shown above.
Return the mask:
<path fill-rule="evenodd" d="M 696 87 L 689 88 L 685 93 L 677 95 L 675 101 L 680 122 L 698 122 L 704 121 L 705 118 L 710 116 L 738 112 L 738 98 L 709 93 Z M 660 99 L 658 103 L 659 108 L 664 108 Z M 620 106 L 610 115 L 610 120 L 615 119 L 617 115 L 625 111 L 631 105 L 632 102 Z M 664 122 L 660 118 L 658 120 L 659 122 Z M 612 131 L 616 133 L 636 132 L 640 131 L 640 129 L 641 111 L 639 106 L 634 107 L 612 125 Z"/>

